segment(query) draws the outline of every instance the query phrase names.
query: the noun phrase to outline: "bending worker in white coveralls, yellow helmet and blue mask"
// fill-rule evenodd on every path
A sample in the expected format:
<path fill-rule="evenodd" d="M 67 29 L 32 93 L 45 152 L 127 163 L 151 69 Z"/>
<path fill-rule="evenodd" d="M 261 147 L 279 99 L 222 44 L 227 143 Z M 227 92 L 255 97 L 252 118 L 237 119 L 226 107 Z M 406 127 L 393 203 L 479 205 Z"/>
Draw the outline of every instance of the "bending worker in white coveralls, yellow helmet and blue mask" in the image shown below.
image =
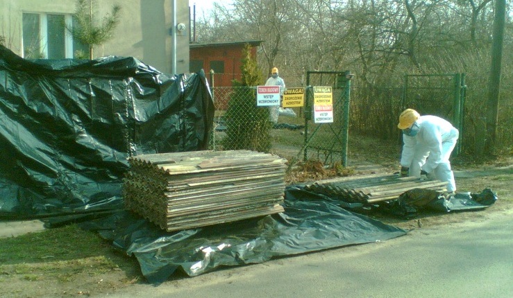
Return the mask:
<path fill-rule="evenodd" d="M 401 177 L 428 177 L 448 182 L 447 192 L 454 193 L 456 184 L 449 157 L 456 146 L 459 132 L 451 123 L 437 116 L 421 116 L 405 109 L 397 127 L 403 130 Z M 426 160 L 427 159 L 427 160 Z"/>

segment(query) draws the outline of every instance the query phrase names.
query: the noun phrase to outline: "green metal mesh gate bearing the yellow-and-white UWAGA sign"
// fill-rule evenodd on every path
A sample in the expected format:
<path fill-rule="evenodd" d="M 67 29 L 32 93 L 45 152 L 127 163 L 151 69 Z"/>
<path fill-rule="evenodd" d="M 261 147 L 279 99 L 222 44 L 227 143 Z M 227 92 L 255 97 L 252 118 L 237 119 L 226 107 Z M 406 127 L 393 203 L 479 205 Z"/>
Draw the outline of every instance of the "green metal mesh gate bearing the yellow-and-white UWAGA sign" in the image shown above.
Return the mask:
<path fill-rule="evenodd" d="M 305 139 L 303 159 L 308 159 L 308 151 L 317 153 L 317 159 L 324 164 L 333 164 L 340 158 L 342 166 L 347 166 L 349 129 L 349 103 L 351 91 L 351 71 L 307 71 L 305 98 Z M 333 88 L 333 123 L 313 123 L 313 87 Z"/>

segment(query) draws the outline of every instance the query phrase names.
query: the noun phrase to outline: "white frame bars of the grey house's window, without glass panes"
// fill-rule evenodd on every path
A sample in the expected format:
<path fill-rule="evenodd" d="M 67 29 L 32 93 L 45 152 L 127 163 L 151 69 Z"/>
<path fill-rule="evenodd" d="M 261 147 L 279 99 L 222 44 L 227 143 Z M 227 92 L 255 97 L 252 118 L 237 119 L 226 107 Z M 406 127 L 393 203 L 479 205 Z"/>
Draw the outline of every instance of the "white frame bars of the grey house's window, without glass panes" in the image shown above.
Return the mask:
<path fill-rule="evenodd" d="M 68 28 L 73 26 L 73 15 L 66 13 L 50 13 L 50 12 L 30 12 L 24 11 L 25 13 L 33 13 L 39 15 L 39 35 L 40 35 L 40 49 L 44 59 L 48 59 L 48 15 L 63 15 L 65 24 Z M 64 41 L 64 52 L 65 58 L 73 58 L 73 36 L 68 30 L 65 30 L 65 41 Z M 22 30 L 23 32 L 23 30 Z M 25 58 L 25 44 L 22 35 L 22 57 Z"/>

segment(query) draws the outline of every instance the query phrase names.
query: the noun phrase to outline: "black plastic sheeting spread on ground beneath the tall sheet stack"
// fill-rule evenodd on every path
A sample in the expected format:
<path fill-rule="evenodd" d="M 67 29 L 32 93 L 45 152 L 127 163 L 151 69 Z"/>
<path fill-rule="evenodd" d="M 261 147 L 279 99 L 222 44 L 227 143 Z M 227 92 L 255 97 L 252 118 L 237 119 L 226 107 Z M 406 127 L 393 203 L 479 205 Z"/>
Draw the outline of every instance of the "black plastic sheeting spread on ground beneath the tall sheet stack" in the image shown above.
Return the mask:
<path fill-rule="evenodd" d="M 262 263 L 278 256 L 373 243 L 406 231 L 346 211 L 301 186 L 285 190 L 285 212 L 199 229 L 165 232 L 126 211 L 83 223 L 115 247 L 137 257 L 151 283 L 167 280 L 176 270 L 191 277 L 220 266 Z"/>

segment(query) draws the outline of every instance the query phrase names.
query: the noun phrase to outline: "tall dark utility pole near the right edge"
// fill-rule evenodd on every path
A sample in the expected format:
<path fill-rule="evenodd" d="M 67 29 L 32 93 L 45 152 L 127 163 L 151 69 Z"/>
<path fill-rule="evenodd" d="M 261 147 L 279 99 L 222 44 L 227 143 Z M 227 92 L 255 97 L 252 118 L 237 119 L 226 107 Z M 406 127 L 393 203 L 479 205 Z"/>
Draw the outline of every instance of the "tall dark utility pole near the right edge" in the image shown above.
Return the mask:
<path fill-rule="evenodd" d="M 498 101 L 501 89 L 501 66 L 503 58 L 506 0 L 495 0 L 494 35 L 491 44 L 491 68 L 488 85 L 487 135 L 485 154 L 493 155 L 496 149 Z"/>

